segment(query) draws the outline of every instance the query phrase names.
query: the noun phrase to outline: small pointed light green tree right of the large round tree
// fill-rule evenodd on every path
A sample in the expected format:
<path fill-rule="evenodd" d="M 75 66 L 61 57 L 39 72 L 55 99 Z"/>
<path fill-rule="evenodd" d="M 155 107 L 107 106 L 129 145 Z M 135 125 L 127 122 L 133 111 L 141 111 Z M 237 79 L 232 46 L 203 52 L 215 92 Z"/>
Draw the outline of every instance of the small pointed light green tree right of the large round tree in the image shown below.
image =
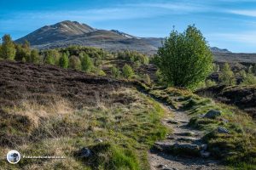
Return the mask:
<path fill-rule="evenodd" d="M 230 65 L 228 63 L 224 65 L 224 68 L 219 75 L 219 80 L 221 84 L 227 86 L 236 84 L 236 77 L 234 76 L 234 72 L 231 71 Z"/>

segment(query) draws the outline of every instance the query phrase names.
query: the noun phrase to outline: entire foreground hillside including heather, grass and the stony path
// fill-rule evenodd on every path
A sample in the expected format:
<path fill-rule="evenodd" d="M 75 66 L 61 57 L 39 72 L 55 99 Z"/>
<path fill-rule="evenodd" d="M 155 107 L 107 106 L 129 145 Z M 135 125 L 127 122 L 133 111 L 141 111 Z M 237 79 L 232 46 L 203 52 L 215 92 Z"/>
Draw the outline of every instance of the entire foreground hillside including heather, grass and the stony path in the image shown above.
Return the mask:
<path fill-rule="evenodd" d="M 1 157 L 0 169 L 255 167 L 255 123 L 236 108 L 53 65 L 2 60 L 0 71 L 0 154 L 64 156 Z"/>

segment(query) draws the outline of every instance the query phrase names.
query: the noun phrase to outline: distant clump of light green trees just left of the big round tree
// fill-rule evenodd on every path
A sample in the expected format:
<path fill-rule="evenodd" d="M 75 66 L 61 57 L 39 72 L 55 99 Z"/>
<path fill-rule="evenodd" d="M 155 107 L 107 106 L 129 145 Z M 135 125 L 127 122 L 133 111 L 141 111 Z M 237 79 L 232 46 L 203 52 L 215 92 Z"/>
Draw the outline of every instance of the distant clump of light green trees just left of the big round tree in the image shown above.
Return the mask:
<path fill-rule="evenodd" d="M 129 51 L 129 50 L 119 51 L 117 56 L 118 56 L 118 59 L 125 59 L 127 61 L 132 61 L 132 62 L 138 61 L 143 65 L 148 65 L 148 61 L 149 61 L 147 55 L 140 54 L 137 51 Z"/>

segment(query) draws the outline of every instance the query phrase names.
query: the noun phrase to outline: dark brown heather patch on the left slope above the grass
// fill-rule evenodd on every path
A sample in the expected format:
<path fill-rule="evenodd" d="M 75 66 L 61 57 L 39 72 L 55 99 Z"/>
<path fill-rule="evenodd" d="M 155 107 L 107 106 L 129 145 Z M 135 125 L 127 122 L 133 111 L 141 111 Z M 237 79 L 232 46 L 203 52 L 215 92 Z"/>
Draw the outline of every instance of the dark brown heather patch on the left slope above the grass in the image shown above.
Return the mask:
<path fill-rule="evenodd" d="M 68 98 L 76 105 L 95 104 L 96 93 L 108 99 L 108 92 L 121 82 L 84 72 L 63 70 L 51 65 L 0 62 L 0 105 L 14 105 L 22 99 L 52 99 L 52 95 Z"/>

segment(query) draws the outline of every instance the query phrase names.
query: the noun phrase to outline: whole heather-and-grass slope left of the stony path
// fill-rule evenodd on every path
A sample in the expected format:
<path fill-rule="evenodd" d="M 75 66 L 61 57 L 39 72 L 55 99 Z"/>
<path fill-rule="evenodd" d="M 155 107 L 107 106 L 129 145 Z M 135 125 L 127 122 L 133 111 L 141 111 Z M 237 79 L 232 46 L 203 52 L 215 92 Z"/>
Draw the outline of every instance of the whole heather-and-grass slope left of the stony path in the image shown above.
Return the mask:
<path fill-rule="evenodd" d="M 148 169 L 167 133 L 165 111 L 124 81 L 8 61 L 0 71 L 0 169 Z M 65 158 L 11 165 L 9 150 Z"/>

